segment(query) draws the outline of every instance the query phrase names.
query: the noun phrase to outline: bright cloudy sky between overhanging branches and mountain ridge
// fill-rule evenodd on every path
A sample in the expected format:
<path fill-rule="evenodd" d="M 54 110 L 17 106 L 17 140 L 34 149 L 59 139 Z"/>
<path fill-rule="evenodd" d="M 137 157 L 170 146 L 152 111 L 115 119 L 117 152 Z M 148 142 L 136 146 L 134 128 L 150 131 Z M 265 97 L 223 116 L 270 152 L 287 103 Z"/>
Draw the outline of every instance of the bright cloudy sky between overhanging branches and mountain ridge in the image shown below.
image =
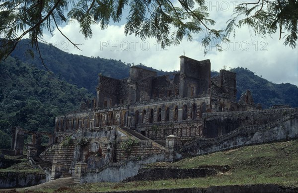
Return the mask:
<path fill-rule="evenodd" d="M 226 21 L 231 18 L 236 0 L 207 0 L 207 6 L 217 24 L 212 28 L 224 29 Z M 127 11 L 128 12 L 128 11 Z M 128 13 L 124 12 L 124 15 Z M 211 68 L 219 71 L 224 65 L 229 67 L 247 67 L 257 75 L 274 83 L 298 85 L 298 49 L 291 49 L 279 40 L 279 34 L 263 39 L 252 32 L 247 26 L 236 30 L 236 36 L 230 37 L 230 43 L 222 44 L 224 51 L 219 52 L 210 47 L 210 52 L 204 56 L 204 49 L 200 38 L 204 34 L 193 36 L 191 42 L 186 39 L 179 46 L 171 46 L 162 50 L 154 39 L 142 41 L 140 38 L 125 36 L 124 21 L 119 24 L 110 24 L 105 30 L 99 25 L 93 25 L 93 37 L 85 40 L 79 33 L 79 25 L 72 23 L 61 27 L 61 30 L 74 43 L 83 43 L 79 51 L 69 44 L 66 39 L 55 32 L 53 37 L 45 35 L 45 40 L 59 49 L 87 57 L 100 57 L 121 60 L 125 63 L 145 64 L 156 69 L 167 71 L 179 70 L 179 56 L 185 55 L 195 60 L 210 59 Z"/>

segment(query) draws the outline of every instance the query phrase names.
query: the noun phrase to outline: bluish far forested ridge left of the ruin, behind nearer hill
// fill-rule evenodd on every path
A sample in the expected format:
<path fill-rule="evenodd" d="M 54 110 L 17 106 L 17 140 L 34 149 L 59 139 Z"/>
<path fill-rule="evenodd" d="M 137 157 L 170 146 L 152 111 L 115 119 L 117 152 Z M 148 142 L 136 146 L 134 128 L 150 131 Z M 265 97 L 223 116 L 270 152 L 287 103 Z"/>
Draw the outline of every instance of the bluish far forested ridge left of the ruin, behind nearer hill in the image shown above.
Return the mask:
<path fill-rule="evenodd" d="M 59 79 L 66 80 L 78 88 L 84 87 L 92 93 L 95 93 L 99 73 L 119 79 L 129 75 L 129 65 L 121 61 L 69 54 L 53 45 L 44 43 L 40 43 L 39 48 L 47 68 L 54 72 Z M 30 52 L 26 52 L 27 49 L 32 50 L 34 59 L 29 54 Z M 45 69 L 39 59 L 38 52 L 31 48 L 26 39 L 18 44 L 11 56 L 17 57 L 25 63 L 35 64 L 39 69 Z"/>

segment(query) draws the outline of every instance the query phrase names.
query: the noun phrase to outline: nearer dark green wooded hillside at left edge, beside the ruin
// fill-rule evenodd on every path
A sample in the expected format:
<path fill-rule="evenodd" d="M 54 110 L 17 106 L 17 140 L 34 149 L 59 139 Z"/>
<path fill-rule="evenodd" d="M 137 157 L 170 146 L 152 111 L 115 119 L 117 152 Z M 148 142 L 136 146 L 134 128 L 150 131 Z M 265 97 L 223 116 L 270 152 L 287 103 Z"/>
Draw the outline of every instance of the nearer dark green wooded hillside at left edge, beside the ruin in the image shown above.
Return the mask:
<path fill-rule="evenodd" d="M 10 147 L 10 128 L 53 131 L 55 117 L 93 97 L 35 65 L 14 58 L 0 62 L 0 149 Z"/>

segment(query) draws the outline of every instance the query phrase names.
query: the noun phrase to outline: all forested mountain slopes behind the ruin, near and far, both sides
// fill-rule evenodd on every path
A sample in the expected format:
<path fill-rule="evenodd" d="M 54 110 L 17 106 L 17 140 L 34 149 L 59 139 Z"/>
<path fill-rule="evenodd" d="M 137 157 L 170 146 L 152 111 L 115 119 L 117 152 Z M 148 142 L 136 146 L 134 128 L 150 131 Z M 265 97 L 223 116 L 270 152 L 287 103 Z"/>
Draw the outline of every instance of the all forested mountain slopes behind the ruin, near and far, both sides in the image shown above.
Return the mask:
<path fill-rule="evenodd" d="M 78 109 L 81 101 L 93 97 L 98 73 L 118 79 L 129 75 L 131 64 L 73 55 L 41 43 L 40 50 L 51 74 L 35 51 L 34 60 L 24 54 L 26 44 L 23 40 L 13 58 L 0 62 L 0 149 L 9 148 L 12 126 L 52 131 L 56 116 Z M 141 67 L 155 70 L 158 75 L 169 73 L 143 64 Z M 261 103 L 263 108 L 276 104 L 298 107 L 296 85 L 272 83 L 243 67 L 230 71 L 237 73 L 237 100 L 250 89 L 255 104 Z M 218 74 L 211 72 L 212 76 Z"/>

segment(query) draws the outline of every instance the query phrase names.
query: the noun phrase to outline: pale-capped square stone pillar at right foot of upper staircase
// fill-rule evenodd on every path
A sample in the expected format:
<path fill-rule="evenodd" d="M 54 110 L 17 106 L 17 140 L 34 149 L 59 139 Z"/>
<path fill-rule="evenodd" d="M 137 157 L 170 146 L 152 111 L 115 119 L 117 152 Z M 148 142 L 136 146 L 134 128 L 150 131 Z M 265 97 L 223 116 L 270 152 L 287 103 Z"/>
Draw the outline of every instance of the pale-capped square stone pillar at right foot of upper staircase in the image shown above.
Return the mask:
<path fill-rule="evenodd" d="M 179 147 L 179 140 L 180 138 L 175 135 L 165 137 L 166 161 L 171 162 L 180 158 L 181 155 L 176 153 Z"/>

